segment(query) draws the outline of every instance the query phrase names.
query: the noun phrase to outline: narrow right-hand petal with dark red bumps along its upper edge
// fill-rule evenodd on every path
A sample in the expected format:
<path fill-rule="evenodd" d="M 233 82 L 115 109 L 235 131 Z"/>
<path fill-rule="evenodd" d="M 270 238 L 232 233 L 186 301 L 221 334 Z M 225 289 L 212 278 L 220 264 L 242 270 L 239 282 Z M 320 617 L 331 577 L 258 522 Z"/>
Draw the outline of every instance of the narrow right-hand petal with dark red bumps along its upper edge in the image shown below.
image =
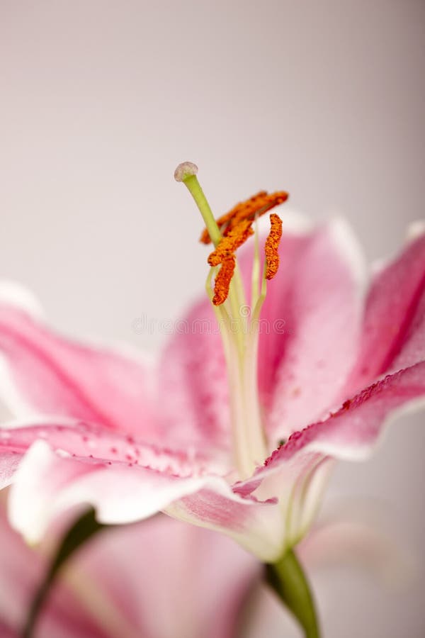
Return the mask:
<path fill-rule="evenodd" d="M 333 459 L 363 460 L 382 429 L 404 410 L 425 406 L 425 362 L 387 376 L 347 401 L 327 420 L 295 432 L 254 476 L 234 487 L 261 500 L 278 498 L 285 515 L 285 546 L 312 524 Z"/>

